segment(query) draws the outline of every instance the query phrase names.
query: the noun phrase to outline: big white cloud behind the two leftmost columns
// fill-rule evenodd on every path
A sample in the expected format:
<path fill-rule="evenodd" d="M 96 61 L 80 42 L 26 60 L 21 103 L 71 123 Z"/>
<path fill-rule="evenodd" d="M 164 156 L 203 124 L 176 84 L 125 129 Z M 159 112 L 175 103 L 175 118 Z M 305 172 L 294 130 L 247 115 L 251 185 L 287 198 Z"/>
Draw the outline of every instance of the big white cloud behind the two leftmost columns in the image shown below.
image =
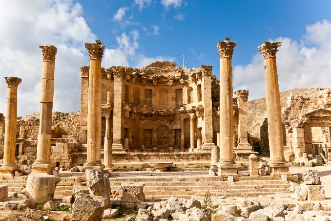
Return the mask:
<path fill-rule="evenodd" d="M 88 64 L 84 43 L 96 39 L 82 13 L 82 6 L 72 0 L 0 3 L 0 112 L 6 109 L 6 76 L 22 79 L 18 86 L 18 115 L 40 111 L 39 45 L 50 44 L 58 48 L 53 110 L 79 110 L 79 68 Z"/>

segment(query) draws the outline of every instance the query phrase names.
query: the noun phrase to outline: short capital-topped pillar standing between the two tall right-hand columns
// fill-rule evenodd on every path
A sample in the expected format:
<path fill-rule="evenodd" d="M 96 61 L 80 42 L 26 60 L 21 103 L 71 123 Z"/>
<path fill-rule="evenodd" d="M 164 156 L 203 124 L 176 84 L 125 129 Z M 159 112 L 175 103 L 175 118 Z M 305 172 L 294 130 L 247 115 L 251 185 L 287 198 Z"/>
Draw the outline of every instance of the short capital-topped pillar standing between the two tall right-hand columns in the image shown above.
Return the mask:
<path fill-rule="evenodd" d="M 252 146 L 248 143 L 248 126 L 247 126 L 247 101 L 248 90 L 237 90 L 234 92 L 237 95 L 238 105 L 238 138 L 239 143 L 236 150 L 236 161 L 238 163 L 248 164 L 248 157 L 251 154 L 257 155 L 258 152 L 252 151 Z"/>

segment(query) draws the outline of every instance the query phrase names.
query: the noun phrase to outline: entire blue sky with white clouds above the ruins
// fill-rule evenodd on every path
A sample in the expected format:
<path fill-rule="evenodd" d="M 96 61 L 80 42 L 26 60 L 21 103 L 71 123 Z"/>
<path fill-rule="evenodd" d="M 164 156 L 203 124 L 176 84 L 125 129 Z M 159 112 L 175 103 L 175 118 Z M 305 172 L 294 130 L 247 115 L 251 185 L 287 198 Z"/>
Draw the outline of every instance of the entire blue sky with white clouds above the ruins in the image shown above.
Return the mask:
<path fill-rule="evenodd" d="M 231 36 L 233 88 L 249 99 L 265 96 L 257 46 L 282 41 L 279 87 L 330 87 L 331 1 L 316 0 L 0 0 L 0 78 L 22 78 L 18 114 L 39 112 L 42 56 L 39 45 L 58 48 L 53 110 L 76 111 L 84 43 L 105 45 L 103 67 L 144 67 L 156 60 L 187 68 L 212 65 L 219 78 L 217 43 Z M 4 81 L 4 79 L 3 79 Z M 5 113 L 6 84 L 0 85 Z"/>

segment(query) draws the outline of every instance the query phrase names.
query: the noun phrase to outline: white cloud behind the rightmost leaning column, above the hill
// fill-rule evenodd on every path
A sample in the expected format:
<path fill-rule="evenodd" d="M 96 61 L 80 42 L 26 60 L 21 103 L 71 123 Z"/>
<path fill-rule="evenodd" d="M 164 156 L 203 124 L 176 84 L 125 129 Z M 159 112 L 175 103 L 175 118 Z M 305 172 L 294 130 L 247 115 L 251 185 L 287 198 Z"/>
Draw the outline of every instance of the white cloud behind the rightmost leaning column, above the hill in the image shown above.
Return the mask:
<path fill-rule="evenodd" d="M 331 23 L 316 22 L 308 25 L 306 31 L 300 44 L 283 37 L 269 40 L 283 42 L 276 55 L 280 91 L 330 87 Z M 249 100 L 265 97 L 262 55 L 256 53 L 247 66 L 234 66 L 233 88 L 249 89 Z"/>

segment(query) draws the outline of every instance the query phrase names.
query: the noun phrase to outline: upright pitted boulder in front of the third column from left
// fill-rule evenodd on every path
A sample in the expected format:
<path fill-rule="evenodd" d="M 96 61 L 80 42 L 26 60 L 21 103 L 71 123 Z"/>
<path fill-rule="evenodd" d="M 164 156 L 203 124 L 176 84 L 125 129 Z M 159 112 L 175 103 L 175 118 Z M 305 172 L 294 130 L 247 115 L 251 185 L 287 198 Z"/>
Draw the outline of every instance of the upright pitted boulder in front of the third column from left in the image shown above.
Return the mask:
<path fill-rule="evenodd" d="M 109 207 L 108 195 L 110 193 L 110 184 L 108 177 L 103 175 L 103 172 L 98 170 L 96 172 L 86 169 L 85 171 L 86 184 L 90 189 L 90 194 L 106 199 L 105 207 Z"/>

